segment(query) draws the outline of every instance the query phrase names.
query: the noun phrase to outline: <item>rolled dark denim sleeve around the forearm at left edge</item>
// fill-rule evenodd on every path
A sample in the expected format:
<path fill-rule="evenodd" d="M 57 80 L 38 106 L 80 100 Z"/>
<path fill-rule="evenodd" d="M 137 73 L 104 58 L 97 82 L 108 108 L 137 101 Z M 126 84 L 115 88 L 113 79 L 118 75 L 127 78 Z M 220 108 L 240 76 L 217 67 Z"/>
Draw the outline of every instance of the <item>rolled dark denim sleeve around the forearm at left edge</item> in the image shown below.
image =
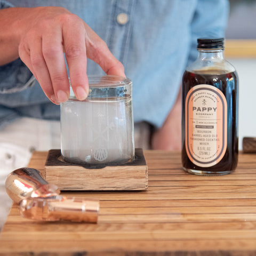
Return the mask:
<path fill-rule="evenodd" d="M 14 7 L 11 3 L 0 0 L 0 9 Z M 35 77 L 27 66 L 18 58 L 6 65 L 0 66 L 0 93 L 20 92 L 34 85 Z"/>

